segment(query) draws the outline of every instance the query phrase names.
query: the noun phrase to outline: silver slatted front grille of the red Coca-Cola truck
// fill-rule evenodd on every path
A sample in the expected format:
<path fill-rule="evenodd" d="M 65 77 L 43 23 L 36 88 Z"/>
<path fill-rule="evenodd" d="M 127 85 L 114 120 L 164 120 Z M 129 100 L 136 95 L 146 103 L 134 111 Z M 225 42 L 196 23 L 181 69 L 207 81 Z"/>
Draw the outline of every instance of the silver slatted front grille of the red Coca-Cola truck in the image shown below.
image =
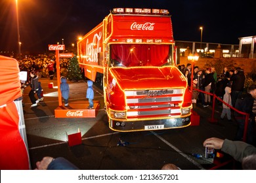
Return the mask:
<path fill-rule="evenodd" d="M 125 91 L 127 118 L 181 115 L 184 89 Z"/>

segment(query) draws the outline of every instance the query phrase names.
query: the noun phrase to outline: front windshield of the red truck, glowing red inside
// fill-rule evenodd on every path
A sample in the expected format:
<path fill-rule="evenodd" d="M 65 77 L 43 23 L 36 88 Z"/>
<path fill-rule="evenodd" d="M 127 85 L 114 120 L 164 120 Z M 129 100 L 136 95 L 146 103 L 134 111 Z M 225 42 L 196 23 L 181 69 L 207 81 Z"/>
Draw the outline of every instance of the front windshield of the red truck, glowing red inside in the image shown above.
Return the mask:
<path fill-rule="evenodd" d="M 114 67 L 170 65 L 170 44 L 112 44 L 110 64 Z"/>

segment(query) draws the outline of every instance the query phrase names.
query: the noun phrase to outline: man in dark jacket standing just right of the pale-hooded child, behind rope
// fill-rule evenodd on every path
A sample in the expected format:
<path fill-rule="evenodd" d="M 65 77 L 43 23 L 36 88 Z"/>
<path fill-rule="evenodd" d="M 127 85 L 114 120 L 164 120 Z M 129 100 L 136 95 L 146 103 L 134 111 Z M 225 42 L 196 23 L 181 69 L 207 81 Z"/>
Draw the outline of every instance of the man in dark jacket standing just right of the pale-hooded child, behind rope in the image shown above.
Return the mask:
<path fill-rule="evenodd" d="M 244 91 L 244 83 L 245 83 L 245 75 L 244 71 L 240 67 L 236 67 L 234 71 L 234 75 L 230 78 L 230 82 L 232 82 L 231 86 L 231 99 L 232 105 L 236 105 L 236 99 L 242 96 Z"/>

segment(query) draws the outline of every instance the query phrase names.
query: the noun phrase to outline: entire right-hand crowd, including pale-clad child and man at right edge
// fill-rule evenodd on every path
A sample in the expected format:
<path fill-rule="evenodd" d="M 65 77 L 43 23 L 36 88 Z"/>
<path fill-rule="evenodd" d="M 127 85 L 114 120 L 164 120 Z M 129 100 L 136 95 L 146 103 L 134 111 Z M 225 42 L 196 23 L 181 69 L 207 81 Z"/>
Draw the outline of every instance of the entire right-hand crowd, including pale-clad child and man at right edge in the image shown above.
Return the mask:
<path fill-rule="evenodd" d="M 228 71 L 227 67 L 224 67 L 219 76 L 215 71 L 215 67 L 209 67 L 202 71 L 196 66 L 194 67 L 193 76 L 190 63 L 186 67 L 185 65 L 180 65 L 179 69 L 188 80 L 188 86 L 206 92 L 192 90 L 192 103 L 200 101 L 203 107 L 208 107 L 213 100 L 212 95 L 209 95 L 212 93 L 221 99 L 218 100 L 219 104 L 223 106 L 221 120 L 226 116 L 229 121 L 232 121 L 232 114 L 234 114 L 234 121 L 238 124 L 236 141 L 244 141 L 245 115 L 240 112 L 249 114 L 246 142 L 256 145 L 256 86 L 251 84 L 245 91 L 243 69 L 236 67 L 234 70 L 230 69 Z"/>

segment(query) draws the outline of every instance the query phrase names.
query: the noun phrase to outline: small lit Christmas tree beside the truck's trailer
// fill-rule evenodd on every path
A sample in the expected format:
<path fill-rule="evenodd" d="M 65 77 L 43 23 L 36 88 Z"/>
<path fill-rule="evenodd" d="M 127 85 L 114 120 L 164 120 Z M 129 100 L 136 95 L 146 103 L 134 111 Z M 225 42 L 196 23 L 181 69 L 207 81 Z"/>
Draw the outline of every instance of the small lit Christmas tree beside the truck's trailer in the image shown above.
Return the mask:
<path fill-rule="evenodd" d="M 79 64 L 76 56 L 74 56 L 74 58 L 70 59 L 70 61 L 68 62 L 67 78 L 68 80 L 72 80 L 72 81 L 78 81 L 78 80 L 81 80 L 82 78 L 81 70 L 79 68 Z"/>

